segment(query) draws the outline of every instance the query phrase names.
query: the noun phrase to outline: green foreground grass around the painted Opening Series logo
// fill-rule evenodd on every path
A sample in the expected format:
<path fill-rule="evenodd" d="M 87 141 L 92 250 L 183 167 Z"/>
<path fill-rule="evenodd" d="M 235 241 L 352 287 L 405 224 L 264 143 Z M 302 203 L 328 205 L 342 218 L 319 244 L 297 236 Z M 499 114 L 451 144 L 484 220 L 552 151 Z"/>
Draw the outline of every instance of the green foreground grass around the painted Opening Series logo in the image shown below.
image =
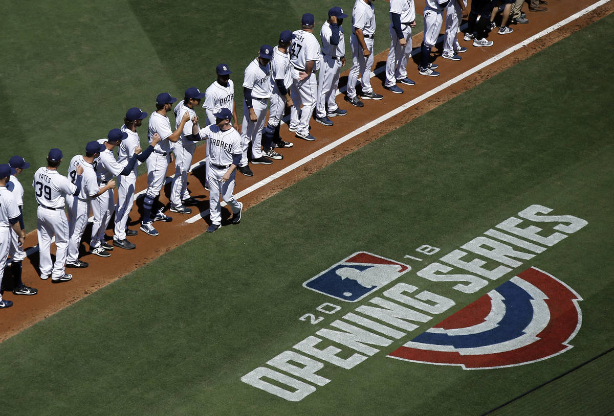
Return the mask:
<path fill-rule="evenodd" d="M 614 63 L 602 51 L 613 25 L 610 15 L 582 29 L 257 204 L 240 225 L 193 239 L 3 342 L 2 413 L 478 415 L 612 349 L 614 102 L 604 80 Z M 241 382 L 368 303 L 336 301 L 306 280 L 354 252 L 408 264 L 398 281 L 454 302 L 416 322 L 416 336 L 503 283 L 461 293 L 416 271 L 533 204 L 588 221 L 505 278 L 534 266 L 577 291 L 572 349 L 467 371 L 388 358 L 404 337 L 352 369 L 326 363 L 317 374 L 331 381 L 298 402 Z M 425 244 L 440 253 L 416 252 Z M 325 302 L 341 310 L 317 312 Z M 324 320 L 311 325 L 299 319 L 306 314 Z M 330 344 L 344 359 L 353 353 Z M 606 354 L 495 414 L 608 414 L 611 363 Z"/>

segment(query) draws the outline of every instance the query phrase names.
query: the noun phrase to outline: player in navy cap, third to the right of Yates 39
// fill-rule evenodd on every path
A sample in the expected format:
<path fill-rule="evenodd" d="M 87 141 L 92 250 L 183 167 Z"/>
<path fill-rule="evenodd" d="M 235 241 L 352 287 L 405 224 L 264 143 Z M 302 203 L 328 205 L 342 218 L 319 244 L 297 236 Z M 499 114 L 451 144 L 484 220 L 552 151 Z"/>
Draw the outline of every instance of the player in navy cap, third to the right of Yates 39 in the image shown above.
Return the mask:
<path fill-rule="evenodd" d="M 126 139 L 123 139 L 117 150 L 117 161 L 124 163 L 134 153 L 135 150 L 141 148 L 141 139 L 136 133 L 136 128 L 142 125 L 142 120 L 147 117 L 147 113 L 138 107 L 132 107 L 126 112 L 126 117 L 123 118 L 123 126 L 120 130 L 128 134 Z M 136 159 L 138 164 L 143 163 L 152 153 L 153 147 L 149 146 L 146 150 L 140 153 Z M 115 206 L 115 234 L 113 236 L 113 245 L 115 247 L 132 249 L 136 247 L 134 244 L 126 240 L 126 236 L 136 236 L 138 231 L 128 229 L 128 216 L 134 204 L 134 187 L 136 186 L 136 177 L 139 175 L 138 166 L 134 166 L 129 175 L 119 177 L 119 187 L 117 187 L 117 205 Z"/>

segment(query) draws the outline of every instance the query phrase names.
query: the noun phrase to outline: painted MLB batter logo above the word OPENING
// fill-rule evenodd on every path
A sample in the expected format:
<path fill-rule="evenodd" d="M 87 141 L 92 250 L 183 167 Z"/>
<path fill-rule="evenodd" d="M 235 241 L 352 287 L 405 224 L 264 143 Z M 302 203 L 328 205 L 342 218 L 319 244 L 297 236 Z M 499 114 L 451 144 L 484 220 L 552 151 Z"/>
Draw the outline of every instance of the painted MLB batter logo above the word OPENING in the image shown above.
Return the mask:
<path fill-rule="evenodd" d="M 410 266 L 366 252 L 334 264 L 303 286 L 346 302 L 357 302 L 410 271 Z"/>

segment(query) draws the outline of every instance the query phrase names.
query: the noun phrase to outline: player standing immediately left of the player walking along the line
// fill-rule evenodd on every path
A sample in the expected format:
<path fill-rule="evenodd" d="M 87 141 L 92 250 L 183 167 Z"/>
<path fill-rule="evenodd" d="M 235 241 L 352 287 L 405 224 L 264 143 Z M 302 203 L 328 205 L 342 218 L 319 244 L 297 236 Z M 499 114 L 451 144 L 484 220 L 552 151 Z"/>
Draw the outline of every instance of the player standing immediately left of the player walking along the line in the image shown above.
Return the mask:
<path fill-rule="evenodd" d="M 190 114 L 184 128 L 179 135 L 179 140 L 173 145 L 173 153 L 175 154 L 175 177 L 171 185 L 171 211 L 179 212 L 179 214 L 192 214 L 192 209 L 185 206 L 198 204 L 198 199 L 190 196 L 188 191 L 188 172 L 192 166 L 192 156 L 196 150 L 195 141 L 198 141 L 197 123 L 193 123 L 196 117 L 194 107 L 200 106 L 200 100 L 203 99 L 204 93 L 196 87 L 190 87 L 185 90 L 183 101 L 177 103 L 174 109 L 175 113 L 175 128 L 179 127 L 184 113 Z"/>

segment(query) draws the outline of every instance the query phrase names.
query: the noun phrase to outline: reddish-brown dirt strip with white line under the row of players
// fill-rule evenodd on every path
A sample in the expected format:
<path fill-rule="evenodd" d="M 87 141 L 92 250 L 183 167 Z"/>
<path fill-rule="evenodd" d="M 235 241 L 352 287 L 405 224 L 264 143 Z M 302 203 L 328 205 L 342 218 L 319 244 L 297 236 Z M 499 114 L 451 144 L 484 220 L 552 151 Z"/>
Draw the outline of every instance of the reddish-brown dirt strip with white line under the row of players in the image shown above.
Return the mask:
<path fill-rule="evenodd" d="M 416 1 L 416 9 L 419 12 L 423 7 L 423 1 Z M 376 79 L 371 80 L 371 84 L 376 93 L 383 94 L 383 100 L 366 100 L 364 101 L 365 107 L 357 108 L 344 101 L 343 95 L 338 95 L 337 103 L 341 109 L 348 110 L 348 115 L 333 118 L 335 125 L 332 127 L 325 127 L 312 121 L 311 134 L 316 137 L 315 142 L 295 138 L 293 133 L 287 130 L 287 126 L 282 126 L 282 137 L 286 141 L 292 141 L 295 144 L 294 147 L 280 150 L 280 153 L 284 155 L 284 160 L 274 161 L 271 165 L 252 166 L 253 177 L 237 174 L 235 195 L 238 195 L 245 207 L 249 208 L 368 142 L 405 125 L 413 118 L 467 91 L 491 75 L 513 66 L 554 42 L 605 17 L 613 10 L 612 1 L 609 0 L 600 2 L 551 0 L 548 12 L 527 12 L 530 23 L 513 26 L 515 29 L 513 33 L 499 36 L 496 31 L 492 31 L 490 35 L 490 39 L 494 40 L 492 47 L 473 47 L 471 42 L 462 40 L 461 33 L 459 41 L 461 45 L 468 48 L 468 51 L 462 54 L 462 60 L 457 62 L 444 60 L 439 56 L 441 50 L 433 48 L 435 62 L 439 65 L 437 71 L 441 72 L 440 77 L 419 75 L 416 63 L 410 61 L 408 76 L 416 81 L 416 85 L 413 87 L 402 85 L 405 91 L 403 94 L 394 94 L 384 90 L 382 86 L 384 74 L 378 69 L 385 65 L 387 51 L 379 53 L 375 56 Z M 382 12 L 383 10 L 378 10 L 378 13 Z M 387 28 L 379 28 L 376 36 L 388 36 Z M 413 37 L 414 48 L 419 48 L 421 42 L 422 33 L 416 34 Z M 441 44 L 438 47 L 441 47 Z M 346 55 L 349 57 L 349 51 Z M 351 62 L 351 59 L 348 61 Z M 340 87 L 344 86 L 348 71 L 349 64 L 341 75 Z M 145 128 L 141 128 L 141 136 L 144 131 Z M 198 206 L 192 207 L 192 215 L 171 213 L 174 218 L 172 222 L 156 222 L 155 226 L 160 231 L 158 237 L 147 236 L 142 232 L 139 232 L 136 237 L 130 237 L 130 241 L 136 244 L 135 250 L 122 250 L 116 247 L 109 258 L 94 255 L 82 257 L 82 260 L 90 263 L 90 266 L 86 269 L 67 269 L 73 275 L 70 282 L 52 285 L 49 280 L 39 279 L 37 250 L 31 249 L 37 243 L 36 231 L 29 233 L 26 238 L 26 247 L 30 248 L 29 252 L 32 253 L 28 255 L 28 259 L 23 261 L 23 281 L 26 285 L 38 288 L 39 293 L 36 296 L 15 296 L 10 291 L 4 293 L 4 298 L 15 303 L 13 307 L 2 310 L 0 341 L 5 341 L 19 331 L 204 233 L 208 226 L 206 215 L 209 201 L 208 193 L 203 187 L 204 164 L 201 166 L 198 163 L 204 160 L 204 152 L 204 146 L 196 148 L 193 163 L 197 166 L 188 175 L 188 188 L 192 195 L 202 199 Z M 170 176 L 173 173 L 174 164 L 171 164 L 167 175 Z M 144 190 L 146 187 L 146 176 L 141 175 L 137 180 L 136 189 Z M 160 201 L 167 204 L 168 190 L 167 185 L 165 195 L 160 197 Z M 198 210 L 203 212 L 201 217 L 204 217 L 204 220 L 195 216 Z M 129 222 L 131 229 L 138 229 L 140 214 L 139 208 L 133 207 Z M 223 213 L 224 218 L 229 216 L 230 213 L 225 212 L 225 215 Z M 249 210 L 244 212 L 243 221 L 249 221 Z M 223 232 L 223 228 L 219 232 Z M 107 231 L 107 236 L 111 234 L 112 231 Z M 85 246 L 87 244 L 83 244 L 82 248 Z"/>

